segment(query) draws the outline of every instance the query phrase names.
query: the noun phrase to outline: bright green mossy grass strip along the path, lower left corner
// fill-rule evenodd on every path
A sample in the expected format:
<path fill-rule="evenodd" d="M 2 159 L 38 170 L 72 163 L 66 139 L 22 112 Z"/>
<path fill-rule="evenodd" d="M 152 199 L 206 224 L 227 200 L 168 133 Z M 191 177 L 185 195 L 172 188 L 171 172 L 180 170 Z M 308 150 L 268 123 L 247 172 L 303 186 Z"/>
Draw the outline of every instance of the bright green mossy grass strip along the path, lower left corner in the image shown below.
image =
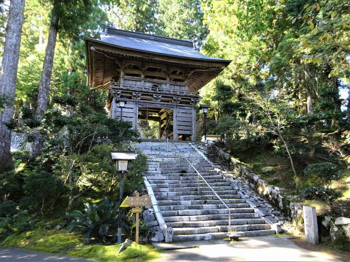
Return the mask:
<path fill-rule="evenodd" d="M 120 245 L 82 245 L 81 235 L 67 233 L 65 230 L 36 229 L 12 234 L 0 246 L 59 253 L 106 262 L 151 262 L 159 258 L 160 251 L 154 249 L 151 245 L 136 245 L 132 243 L 130 247 L 118 254 Z"/>

